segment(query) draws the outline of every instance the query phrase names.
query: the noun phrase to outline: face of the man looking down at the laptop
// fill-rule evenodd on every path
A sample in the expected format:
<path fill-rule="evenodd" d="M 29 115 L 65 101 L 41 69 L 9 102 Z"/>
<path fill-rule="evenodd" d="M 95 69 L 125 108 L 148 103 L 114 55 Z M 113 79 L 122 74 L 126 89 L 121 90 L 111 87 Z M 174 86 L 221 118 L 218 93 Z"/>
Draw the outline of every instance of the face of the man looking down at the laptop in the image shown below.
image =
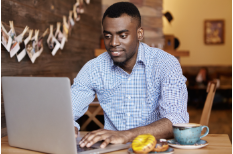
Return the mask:
<path fill-rule="evenodd" d="M 123 14 L 103 21 L 105 47 L 116 65 L 134 66 L 139 45 L 138 21 Z"/>

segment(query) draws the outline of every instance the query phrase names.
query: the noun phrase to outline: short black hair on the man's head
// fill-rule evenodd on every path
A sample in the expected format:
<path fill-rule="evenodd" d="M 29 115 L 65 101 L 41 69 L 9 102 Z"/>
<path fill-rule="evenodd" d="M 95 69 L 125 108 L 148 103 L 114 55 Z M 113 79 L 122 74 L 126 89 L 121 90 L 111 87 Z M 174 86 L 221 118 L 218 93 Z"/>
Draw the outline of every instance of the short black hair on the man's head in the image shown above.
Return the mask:
<path fill-rule="evenodd" d="M 140 12 L 138 8 L 133 3 L 130 2 L 118 2 L 109 6 L 103 15 L 102 24 L 106 16 L 110 18 L 118 18 L 124 13 L 138 20 L 138 27 L 141 27 Z"/>

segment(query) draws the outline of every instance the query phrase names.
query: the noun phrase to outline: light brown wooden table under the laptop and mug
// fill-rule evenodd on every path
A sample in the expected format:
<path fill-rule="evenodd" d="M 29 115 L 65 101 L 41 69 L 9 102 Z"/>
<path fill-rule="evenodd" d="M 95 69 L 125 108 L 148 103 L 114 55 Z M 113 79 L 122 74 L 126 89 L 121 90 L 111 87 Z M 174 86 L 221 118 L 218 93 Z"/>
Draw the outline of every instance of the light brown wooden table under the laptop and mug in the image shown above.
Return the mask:
<path fill-rule="evenodd" d="M 87 132 L 80 132 L 80 136 L 83 136 Z M 195 150 L 184 150 L 184 149 L 176 149 L 174 148 L 175 154 L 231 154 L 232 153 L 232 145 L 229 140 L 227 134 L 209 134 L 203 138 L 206 140 L 209 145 L 203 147 L 201 149 Z M 1 153 L 2 154 L 42 154 L 40 152 L 20 149 L 11 147 L 8 144 L 8 138 L 3 137 L 1 139 Z M 108 154 L 127 154 L 127 150 L 119 150 L 110 152 Z"/>

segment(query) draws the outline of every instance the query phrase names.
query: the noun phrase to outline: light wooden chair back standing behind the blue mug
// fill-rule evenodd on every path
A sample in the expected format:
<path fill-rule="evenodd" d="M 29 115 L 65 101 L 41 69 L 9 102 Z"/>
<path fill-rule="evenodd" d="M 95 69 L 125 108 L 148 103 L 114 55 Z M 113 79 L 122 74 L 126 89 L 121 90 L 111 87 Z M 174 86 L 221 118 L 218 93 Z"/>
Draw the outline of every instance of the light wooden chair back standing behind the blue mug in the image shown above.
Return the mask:
<path fill-rule="evenodd" d="M 208 95 L 207 95 L 205 105 L 204 105 L 202 115 L 201 115 L 201 120 L 200 120 L 201 125 L 208 126 L 209 124 L 210 113 L 211 113 L 211 109 L 212 109 L 212 105 L 214 101 L 214 95 L 216 92 L 216 86 L 217 86 L 217 83 L 214 81 L 211 81 L 208 83 L 208 86 L 206 89 Z"/>

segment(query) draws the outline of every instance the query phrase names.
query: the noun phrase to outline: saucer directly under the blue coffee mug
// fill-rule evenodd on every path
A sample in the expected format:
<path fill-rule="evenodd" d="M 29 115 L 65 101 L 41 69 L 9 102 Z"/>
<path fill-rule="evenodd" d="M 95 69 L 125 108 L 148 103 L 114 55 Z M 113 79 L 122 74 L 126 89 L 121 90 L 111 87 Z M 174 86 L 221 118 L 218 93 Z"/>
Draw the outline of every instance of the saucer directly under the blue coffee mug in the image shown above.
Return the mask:
<path fill-rule="evenodd" d="M 171 147 L 179 148 L 179 149 L 199 149 L 199 148 L 202 148 L 208 145 L 208 142 L 205 140 L 199 140 L 194 145 L 181 145 L 178 142 L 176 142 L 175 139 L 167 140 L 167 142 L 168 142 L 168 145 L 170 145 Z"/>

